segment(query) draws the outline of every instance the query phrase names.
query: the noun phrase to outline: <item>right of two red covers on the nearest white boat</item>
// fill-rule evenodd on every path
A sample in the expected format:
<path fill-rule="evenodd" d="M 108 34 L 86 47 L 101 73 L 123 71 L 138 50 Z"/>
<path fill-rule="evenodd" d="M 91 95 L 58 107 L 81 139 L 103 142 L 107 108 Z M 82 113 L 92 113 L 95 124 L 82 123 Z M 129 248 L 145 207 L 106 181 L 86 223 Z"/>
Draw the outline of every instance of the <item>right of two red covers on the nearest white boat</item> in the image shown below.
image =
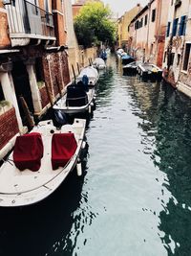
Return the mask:
<path fill-rule="evenodd" d="M 77 148 L 74 133 L 54 133 L 52 139 L 52 166 L 53 170 L 64 167 Z"/>

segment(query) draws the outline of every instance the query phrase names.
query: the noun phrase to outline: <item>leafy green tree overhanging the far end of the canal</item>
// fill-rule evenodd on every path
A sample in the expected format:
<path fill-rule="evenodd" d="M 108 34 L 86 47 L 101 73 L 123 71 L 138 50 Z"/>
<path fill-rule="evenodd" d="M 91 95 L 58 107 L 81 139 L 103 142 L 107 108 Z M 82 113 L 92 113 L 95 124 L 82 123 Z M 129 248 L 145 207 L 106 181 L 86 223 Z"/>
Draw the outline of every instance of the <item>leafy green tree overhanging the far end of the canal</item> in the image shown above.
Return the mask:
<path fill-rule="evenodd" d="M 116 25 L 110 20 L 111 11 L 102 2 L 88 2 L 74 19 L 78 43 L 89 47 L 100 41 L 111 45 L 116 38 Z"/>

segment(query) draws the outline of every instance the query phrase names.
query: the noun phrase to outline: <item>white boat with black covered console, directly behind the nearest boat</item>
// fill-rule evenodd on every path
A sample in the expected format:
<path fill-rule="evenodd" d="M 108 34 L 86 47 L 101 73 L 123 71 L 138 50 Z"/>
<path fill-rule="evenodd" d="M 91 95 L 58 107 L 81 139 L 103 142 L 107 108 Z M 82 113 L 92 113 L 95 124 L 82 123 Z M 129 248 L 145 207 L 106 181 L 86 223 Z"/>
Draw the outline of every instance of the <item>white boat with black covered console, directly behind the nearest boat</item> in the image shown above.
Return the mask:
<path fill-rule="evenodd" d="M 66 114 L 92 112 L 95 105 L 95 87 L 91 86 L 85 90 L 84 85 L 79 83 L 82 82 L 67 87 L 66 94 L 53 105 L 55 111 L 61 110 Z"/>

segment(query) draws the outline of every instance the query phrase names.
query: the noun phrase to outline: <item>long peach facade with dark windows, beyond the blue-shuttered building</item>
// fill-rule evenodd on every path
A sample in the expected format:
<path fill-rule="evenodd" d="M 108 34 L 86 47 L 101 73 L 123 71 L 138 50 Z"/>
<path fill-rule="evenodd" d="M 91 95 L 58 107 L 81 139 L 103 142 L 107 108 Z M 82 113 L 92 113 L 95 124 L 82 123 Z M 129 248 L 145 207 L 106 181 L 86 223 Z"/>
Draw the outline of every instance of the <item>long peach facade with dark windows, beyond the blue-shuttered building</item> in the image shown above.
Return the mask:
<path fill-rule="evenodd" d="M 131 54 L 162 66 L 168 6 L 171 0 L 150 0 L 129 25 Z"/>

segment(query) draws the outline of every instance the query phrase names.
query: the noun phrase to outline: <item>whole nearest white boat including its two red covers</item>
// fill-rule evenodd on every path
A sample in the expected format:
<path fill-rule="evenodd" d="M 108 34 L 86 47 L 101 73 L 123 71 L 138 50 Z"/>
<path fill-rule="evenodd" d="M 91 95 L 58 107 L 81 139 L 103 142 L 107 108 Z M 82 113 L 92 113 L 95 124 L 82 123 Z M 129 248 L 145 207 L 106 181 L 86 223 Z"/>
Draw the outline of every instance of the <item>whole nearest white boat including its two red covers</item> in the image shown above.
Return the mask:
<path fill-rule="evenodd" d="M 60 129 L 43 121 L 29 134 L 18 136 L 0 168 L 0 206 L 30 205 L 53 194 L 78 165 L 85 126 L 84 119 Z"/>

